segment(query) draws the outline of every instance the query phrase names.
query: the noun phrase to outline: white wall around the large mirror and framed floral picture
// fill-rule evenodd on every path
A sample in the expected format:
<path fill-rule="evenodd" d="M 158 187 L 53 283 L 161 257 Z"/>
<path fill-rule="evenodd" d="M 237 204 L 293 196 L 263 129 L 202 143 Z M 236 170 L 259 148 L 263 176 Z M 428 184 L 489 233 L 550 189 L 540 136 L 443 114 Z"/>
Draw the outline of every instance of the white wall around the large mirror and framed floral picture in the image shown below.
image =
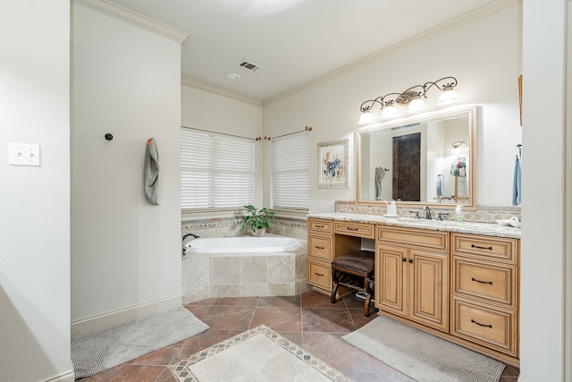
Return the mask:
<path fill-rule="evenodd" d="M 314 128 L 310 133 L 311 148 L 319 142 L 349 138 L 353 158 L 353 132 L 358 127 L 359 106 L 364 100 L 454 76 L 463 104 L 482 106 L 477 131 L 477 202 L 483 206 L 510 206 L 510 174 L 516 144 L 521 143 L 517 89 L 521 73 L 520 33 L 521 8 L 515 7 L 280 99 L 264 108 L 265 134 L 277 135 L 309 125 Z M 428 105 L 434 105 L 438 93 L 431 93 L 433 98 L 427 101 Z M 316 149 L 312 149 L 310 161 L 317 166 Z M 349 189 L 318 189 L 317 172 L 310 171 L 311 212 L 332 211 L 334 200 L 356 199 L 353 162 L 350 166 Z M 265 179 L 270 179 L 269 172 L 265 172 Z M 265 182 L 266 199 L 269 192 L 270 185 Z"/>

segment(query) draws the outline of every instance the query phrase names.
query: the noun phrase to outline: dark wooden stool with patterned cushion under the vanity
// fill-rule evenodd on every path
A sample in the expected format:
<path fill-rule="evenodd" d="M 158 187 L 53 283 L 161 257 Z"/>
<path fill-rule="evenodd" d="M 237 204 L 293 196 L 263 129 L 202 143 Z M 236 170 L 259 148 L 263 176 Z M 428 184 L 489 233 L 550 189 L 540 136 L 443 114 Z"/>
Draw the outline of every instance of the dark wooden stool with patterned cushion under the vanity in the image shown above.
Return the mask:
<path fill-rule="evenodd" d="M 364 315 L 369 317 L 369 302 L 374 294 L 369 287 L 369 281 L 374 276 L 374 258 L 372 250 L 357 250 L 332 260 L 332 304 L 336 302 L 340 285 L 365 292 L 367 296 Z"/>

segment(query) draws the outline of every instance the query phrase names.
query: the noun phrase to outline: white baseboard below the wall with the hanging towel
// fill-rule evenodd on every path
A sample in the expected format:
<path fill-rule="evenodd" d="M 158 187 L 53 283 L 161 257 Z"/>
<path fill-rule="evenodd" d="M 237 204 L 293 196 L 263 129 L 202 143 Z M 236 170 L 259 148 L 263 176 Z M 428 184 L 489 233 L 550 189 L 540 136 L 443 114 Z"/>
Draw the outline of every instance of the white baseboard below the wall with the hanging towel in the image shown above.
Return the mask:
<path fill-rule="evenodd" d="M 96 330 L 105 329 L 105 327 L 113 327 L 114 325 L 129 322 L 133 319 L 142 318 L 150 314 L 178 308 L 181 305 L 182 295 L 176 294 L 161 300 L 146 302 L 130 308 L 115 310 L 90 318 L 83 318 L 71 322 L 71 335 L 95 332 Z"/>

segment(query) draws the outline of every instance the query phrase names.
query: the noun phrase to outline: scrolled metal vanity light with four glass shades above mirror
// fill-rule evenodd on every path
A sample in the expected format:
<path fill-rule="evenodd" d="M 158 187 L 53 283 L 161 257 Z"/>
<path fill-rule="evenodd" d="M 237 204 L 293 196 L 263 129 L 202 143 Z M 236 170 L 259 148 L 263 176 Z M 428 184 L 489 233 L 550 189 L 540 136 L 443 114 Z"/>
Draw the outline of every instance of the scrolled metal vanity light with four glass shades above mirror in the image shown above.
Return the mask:
<path fill-rule="evenodd" d="M 359 110 L 362 115 L 358 124 L 370 124 L 375 122 L 372 107 L 379 104 L 382 110 L 382 119 L 391 119 L 400 115 L 396 106 L 408 106 L 408 114 L 422 113 L 427 110 L 423 98 L 427 98 L 427 91 L 433 86 L 442 89 L 442 94 L 437 100 L 437 106 L 450 106 L 460 101 L 454 88 L 457 86 L 455 77 L 443 77 L 437 81 L 425 82 L 423 85 L 415 85 L 401 93 L 388 93 L 385 96 L 364 101 Z"/>

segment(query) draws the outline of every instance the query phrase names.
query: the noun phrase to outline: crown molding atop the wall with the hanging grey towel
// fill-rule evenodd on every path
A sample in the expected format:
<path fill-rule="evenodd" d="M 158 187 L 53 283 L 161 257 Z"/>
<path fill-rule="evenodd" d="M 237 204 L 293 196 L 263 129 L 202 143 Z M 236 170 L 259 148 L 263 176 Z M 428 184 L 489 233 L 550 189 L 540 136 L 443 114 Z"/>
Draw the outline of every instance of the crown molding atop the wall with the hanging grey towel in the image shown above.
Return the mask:
<path fill-rule="evenodd" d="M 83 5 L 89 9 L 97 11 L 98 13 L 103 13 L 107 16 L 113 17 L 114 19 L 127 22 L 143 30 L 156 33 L 159 36 L 170 38 L 180 44 L 189 37 L 189 33 L 185 31 L 177 30 L 161 21 L 153 20 L 143 14 L 133 12 L 130 9 L 111 3 L 107 0 L 71 0 L 71 2 Z"/>

